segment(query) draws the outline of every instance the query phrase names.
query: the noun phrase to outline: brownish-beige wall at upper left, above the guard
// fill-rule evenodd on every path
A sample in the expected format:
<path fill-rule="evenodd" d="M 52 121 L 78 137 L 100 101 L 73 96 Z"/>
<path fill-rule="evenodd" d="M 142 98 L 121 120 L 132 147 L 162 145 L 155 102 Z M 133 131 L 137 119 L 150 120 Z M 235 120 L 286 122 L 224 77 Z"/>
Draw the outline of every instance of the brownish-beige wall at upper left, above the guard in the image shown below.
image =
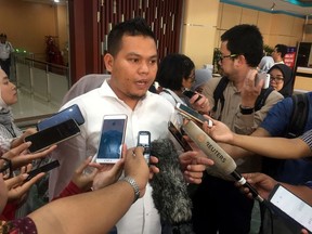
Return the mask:
<path fill-rule="evenodd" d="M 8 35 L 8 40 L 15 49 L 42 54 L 47 35 L 60 36 L 64 44 L 67 38 L 67 30 L 64 30 L 67 26 L 67 16 L 64 16 L 66 6 L 21 0 L 0 0 L 0 32 Z"/>

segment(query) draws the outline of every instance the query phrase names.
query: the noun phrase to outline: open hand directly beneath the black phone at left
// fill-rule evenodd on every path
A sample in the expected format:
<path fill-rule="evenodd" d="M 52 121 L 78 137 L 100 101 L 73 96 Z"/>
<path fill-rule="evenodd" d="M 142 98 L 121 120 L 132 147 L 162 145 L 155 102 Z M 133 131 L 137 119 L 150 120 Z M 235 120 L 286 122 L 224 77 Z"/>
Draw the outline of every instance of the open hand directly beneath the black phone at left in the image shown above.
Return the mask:
<path fill-rule="evenodd" d="M 25 142 L 18 145 L 17 147 L 10 150 L 5 154 L 3 154 L 2 157 L 11 159 L 13 169 L 16 169 L 27 164 L 30 164 L 32 160 L 48 156 L 52 151 L 56 148 L 56 145 L 53 145 L 49 147 L 48 150 L 39 152 L 39 153 L 21 155 L 24 151 L 26 151 L 30 146 L 30 144 L 31 144 L 30 142 Z"/>

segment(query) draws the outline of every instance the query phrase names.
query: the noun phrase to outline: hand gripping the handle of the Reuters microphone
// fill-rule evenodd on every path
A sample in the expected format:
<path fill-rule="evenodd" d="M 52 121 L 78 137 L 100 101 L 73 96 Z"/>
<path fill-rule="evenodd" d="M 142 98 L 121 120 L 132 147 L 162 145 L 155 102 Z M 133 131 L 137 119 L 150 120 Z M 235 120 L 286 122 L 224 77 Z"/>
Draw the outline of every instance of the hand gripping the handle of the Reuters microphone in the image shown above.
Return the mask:
<path fill-rule="evenodd" d="M 268 199 L 269 194 L 273 190 L 273 187 L 277 184 L 273 178 L 269 177 L 264 173 L 244 173 L 242 174 L 248 183 L 255 186 L 258 191 L 259 195 L 264 199 Z M 252 194 L 249 192 L 247 187 L 243 187 L 237 182 L 235 183 L 236 186 L 240 187 L 240 192 L 245 193 L 248 197 L 252 198 Z"/>

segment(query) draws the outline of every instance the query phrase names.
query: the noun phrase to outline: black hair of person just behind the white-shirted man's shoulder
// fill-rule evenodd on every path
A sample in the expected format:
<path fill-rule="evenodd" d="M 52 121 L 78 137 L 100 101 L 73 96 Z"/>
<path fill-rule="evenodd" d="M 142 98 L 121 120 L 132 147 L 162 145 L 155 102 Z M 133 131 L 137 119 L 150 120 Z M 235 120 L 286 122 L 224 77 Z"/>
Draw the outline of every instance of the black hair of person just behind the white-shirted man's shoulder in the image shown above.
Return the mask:
<path fill-rule="evenodd" d="M 181 90 L 183 78 L 191 76 L 195 68 L 193 61 L 184 54 L 168 54 L 159 64 L 156 81 L 160 87 Z"/>

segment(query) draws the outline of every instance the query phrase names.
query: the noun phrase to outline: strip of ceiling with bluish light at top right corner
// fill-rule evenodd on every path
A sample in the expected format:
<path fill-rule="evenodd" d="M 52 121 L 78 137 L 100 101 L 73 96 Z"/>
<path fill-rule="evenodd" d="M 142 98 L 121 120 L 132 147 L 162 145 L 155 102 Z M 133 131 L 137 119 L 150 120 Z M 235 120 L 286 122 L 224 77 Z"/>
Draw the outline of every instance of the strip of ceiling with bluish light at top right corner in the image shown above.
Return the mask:
<path fill-rule="evenodd" d="M 266 12 L 312 17 L 312 0 L 220 0 L 220 2 Z M 271 11 L 273 5 L 274 10 Z"/>

